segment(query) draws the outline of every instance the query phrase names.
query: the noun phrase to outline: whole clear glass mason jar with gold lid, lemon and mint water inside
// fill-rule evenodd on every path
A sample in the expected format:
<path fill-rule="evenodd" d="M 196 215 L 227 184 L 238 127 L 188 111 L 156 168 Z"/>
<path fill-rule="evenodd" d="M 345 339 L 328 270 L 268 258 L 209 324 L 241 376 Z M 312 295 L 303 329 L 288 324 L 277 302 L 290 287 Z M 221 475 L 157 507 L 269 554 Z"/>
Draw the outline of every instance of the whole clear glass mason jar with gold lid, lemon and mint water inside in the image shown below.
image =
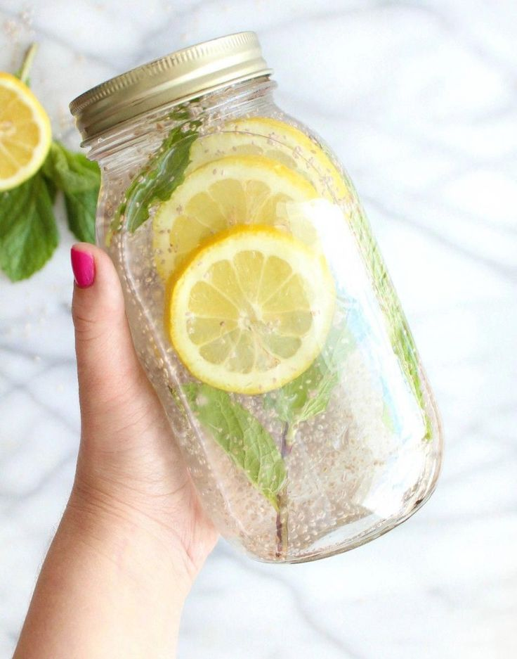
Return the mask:
<path fill-rule="evenodd" d="M 296 563 L 410 517 L 442 439 L 351 180 L 271 73 L 242 32 L 70 107 L 102 171 L 97 241 L 202 506 L 249 556 Z"/>

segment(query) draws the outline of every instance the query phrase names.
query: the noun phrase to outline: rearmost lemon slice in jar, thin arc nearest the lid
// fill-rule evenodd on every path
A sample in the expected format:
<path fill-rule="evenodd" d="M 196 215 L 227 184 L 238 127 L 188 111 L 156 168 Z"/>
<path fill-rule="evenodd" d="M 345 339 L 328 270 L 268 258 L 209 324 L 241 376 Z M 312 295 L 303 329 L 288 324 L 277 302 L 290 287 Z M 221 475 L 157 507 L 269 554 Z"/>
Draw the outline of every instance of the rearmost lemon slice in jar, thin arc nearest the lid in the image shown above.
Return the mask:
<path fill-rule="evenodd" d="M 230 154 L 273 158 L 311 181 L 318 193 L 331 201 L 350 201 L 353 197 L 350 181 L 323 148 L 285 122 L 269 117 L 230 121 L 192 144 L 190 169 Z"/>

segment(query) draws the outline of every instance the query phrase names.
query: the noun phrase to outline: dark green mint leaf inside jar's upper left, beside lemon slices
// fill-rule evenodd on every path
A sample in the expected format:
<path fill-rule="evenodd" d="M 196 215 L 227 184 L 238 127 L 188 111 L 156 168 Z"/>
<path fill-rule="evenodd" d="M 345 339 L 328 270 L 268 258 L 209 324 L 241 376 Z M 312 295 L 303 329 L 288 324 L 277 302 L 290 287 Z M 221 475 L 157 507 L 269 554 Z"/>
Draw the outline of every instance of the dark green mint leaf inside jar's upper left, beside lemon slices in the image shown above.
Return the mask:
<path fill-rule="evenodd" d="M 182 115 L 183 117 L 184 115 Z M 183 122 L 166 136 L 157 154 L 138 174 L 129 188 L 112 222 L 112 231 L 125 226 L 133 233 L 149 217 L 150 207 L 166 201 L 185 179 L 190 164 L 190 146 L 197 139 L 200 121 Z"/>

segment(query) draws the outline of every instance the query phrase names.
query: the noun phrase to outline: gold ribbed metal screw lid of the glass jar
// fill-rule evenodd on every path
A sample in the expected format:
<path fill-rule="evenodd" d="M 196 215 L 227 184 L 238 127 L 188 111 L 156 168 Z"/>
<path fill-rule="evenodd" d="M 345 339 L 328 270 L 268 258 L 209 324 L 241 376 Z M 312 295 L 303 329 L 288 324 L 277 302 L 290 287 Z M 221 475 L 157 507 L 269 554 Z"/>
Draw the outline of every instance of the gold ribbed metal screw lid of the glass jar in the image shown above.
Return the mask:
<path fill-rule="evenodd" d="M 254 32 L 204 41 L 117 75 L 70 103 L 84 142 L 164 103 L 270 75 Z"/>

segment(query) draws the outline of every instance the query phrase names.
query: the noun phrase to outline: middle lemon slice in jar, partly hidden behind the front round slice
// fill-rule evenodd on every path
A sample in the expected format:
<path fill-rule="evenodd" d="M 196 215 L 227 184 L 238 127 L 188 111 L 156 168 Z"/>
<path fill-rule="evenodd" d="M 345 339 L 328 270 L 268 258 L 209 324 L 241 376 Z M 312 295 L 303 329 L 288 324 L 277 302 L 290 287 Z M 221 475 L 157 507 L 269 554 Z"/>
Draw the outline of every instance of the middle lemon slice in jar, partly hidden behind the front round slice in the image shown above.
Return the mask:
<path fill-rule="evenodd" d="M 318 236 L 302 212 L 291 212 L 318 195 L 310 183 L 276 160 L 263 156 L 228 156 L 195 169 L 153 221 L 153 249 L 162 279 L 187 260 L 211 236 L 237 224 L 284 229 L 311 245 Z"/>

